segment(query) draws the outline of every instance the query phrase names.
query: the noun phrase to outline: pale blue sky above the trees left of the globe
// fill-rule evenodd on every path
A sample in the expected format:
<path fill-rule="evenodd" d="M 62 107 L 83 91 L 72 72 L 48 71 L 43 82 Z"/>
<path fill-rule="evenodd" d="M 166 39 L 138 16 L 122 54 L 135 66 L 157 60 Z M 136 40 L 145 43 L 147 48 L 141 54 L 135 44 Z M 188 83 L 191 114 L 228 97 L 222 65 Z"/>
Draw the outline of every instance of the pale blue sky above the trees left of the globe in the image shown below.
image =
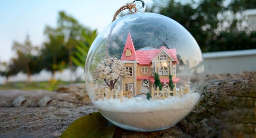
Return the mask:
<path fill-rule="evenodd" d="M 152 0 L 143 0 L 146 6 Z M 46 40 L 46 25 L 56 27 L 59 11 L 74 17 L 79 23 L 98 32 L 111 23 L 115 11 L 132 0 L 1 0 L 0 62 L 15 56 L 14 41 L 23 43 L 26 35 L 32 45 L 41 46 Z"/>

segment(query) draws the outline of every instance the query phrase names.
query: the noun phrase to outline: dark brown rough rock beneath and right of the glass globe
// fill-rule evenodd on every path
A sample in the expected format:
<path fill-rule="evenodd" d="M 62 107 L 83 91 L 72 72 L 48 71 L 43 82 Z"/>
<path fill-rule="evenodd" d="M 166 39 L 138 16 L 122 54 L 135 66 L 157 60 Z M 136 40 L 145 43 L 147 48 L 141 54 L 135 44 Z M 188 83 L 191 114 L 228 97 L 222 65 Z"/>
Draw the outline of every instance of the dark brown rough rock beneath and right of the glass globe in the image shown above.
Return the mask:
<path fill-rule="evenodd" d="M 256 73 L 210 75 L 206 80 L 198 105 L 177 125 L 156 132 L 117 127 L 114 137 L 254 137 Z"/>

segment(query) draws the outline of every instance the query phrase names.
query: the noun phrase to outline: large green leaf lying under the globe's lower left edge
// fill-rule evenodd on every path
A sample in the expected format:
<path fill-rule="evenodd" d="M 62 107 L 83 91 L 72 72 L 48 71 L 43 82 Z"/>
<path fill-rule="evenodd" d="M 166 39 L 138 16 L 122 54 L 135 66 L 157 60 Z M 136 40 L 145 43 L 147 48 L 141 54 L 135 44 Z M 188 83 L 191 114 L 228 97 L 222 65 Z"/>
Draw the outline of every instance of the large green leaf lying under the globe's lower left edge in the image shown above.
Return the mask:
<path fill-rule="evenodd" d="M 61 135 L 61 138 L 112 138 L 116 126 L 99 112 L 76 119 Z"/>

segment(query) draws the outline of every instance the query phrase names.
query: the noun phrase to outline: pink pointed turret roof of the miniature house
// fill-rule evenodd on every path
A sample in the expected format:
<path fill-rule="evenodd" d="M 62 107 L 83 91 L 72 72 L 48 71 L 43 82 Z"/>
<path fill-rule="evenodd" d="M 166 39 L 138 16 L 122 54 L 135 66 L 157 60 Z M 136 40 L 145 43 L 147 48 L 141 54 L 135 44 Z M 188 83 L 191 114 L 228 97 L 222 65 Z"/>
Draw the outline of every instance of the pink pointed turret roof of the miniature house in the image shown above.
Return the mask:
<path fill-rule="evenodd" d="M 131 56 L 125 56 L 125 51 L 129 49 L 131 51 Z M 121 61 L 132 61 L 132 60 L 137 60 L 137 54 L 135 52 L 135 48 L 132 42 L 132 37 L 131 34 L 128 33 L 127 39 L 126 39 L 126 43 L 124 46 L 124 50 L 121 56 Z"/>

